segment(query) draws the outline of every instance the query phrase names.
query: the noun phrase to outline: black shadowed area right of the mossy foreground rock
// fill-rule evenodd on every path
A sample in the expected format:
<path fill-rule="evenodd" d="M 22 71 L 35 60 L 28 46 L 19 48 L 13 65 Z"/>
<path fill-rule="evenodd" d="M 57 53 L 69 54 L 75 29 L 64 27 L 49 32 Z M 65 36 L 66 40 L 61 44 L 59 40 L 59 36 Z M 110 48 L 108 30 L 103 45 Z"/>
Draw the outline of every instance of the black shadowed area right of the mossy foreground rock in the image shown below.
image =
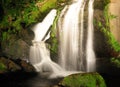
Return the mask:
<path fill-rule="evenodd" d="M 120 68 L 114 66 L 110 59 L 97 59 L 97 72 L 104 78 L 107 87 L 118 87 L 120 84 Z"/>

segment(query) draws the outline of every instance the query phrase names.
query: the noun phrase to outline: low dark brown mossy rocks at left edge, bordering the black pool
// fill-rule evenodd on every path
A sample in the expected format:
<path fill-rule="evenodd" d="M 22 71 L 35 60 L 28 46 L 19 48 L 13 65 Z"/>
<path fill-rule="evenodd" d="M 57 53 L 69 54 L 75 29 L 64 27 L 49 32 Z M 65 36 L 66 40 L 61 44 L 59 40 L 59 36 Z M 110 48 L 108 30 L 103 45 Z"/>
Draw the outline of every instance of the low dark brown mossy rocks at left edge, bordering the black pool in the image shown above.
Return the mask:
<path fill-rule="evenodd" d="M 13 60 L 6 57 L 0 57 L 0 73 L 11 72 L 35 72 L 35 68 L 25 60 Z"/>

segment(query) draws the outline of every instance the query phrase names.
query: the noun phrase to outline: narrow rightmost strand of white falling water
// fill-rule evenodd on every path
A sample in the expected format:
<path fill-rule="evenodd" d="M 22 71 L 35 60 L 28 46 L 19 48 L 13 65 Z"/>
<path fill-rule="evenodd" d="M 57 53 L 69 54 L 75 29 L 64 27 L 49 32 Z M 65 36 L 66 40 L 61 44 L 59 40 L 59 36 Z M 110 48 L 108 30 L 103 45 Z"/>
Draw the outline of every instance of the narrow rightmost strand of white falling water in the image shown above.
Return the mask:
<path fill-rule="evenodd" d="M 86 60 L 87 60 L 87 71 L 94 71 L 95 70 L 95 53 L 93 50 L 93 2 L 94 0 L 89 1 L 88 5 L 88 36 L 87 36 L 87 46 L 86 46 Z"/>

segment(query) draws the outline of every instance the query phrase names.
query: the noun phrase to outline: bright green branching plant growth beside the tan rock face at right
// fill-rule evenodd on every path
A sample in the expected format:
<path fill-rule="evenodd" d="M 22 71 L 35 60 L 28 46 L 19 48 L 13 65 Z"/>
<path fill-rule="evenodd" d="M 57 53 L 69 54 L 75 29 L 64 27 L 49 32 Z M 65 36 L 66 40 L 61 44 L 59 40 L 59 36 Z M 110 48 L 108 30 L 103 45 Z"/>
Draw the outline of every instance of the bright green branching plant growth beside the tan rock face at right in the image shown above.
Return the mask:
<path fill-rule="evenodd" d="M 105 18 L 105 24 L 103 24 L 102 22 L 99 21 L 98 26 L 101 29 L 101 31 L 104 32 L 104 34 L 108 38 L 108 44 L 110 44 L 111 48 L 116 52 L 120 52 L 120 44 L 114 38 L 113 34 L 110 32 L 109 21 L 116 18 L 116 16 L 108 13 L 108 5 L 104 9 L 104 18 Z"/>

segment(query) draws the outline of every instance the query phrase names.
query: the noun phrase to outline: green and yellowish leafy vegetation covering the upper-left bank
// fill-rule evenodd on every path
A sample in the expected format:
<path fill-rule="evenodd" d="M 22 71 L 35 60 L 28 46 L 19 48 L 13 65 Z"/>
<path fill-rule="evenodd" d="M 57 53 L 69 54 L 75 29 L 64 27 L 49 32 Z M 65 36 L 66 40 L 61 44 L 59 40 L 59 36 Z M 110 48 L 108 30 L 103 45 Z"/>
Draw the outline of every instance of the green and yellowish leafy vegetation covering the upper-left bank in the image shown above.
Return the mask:
<path fill-rule="evenodd" d="M 61 1 L 66 0 L 1 0 L 0 39 L 9 39 L 11 34 L 19 35 L 22 29 L 42 21 L 51 9 L 59 7 Z"/>

